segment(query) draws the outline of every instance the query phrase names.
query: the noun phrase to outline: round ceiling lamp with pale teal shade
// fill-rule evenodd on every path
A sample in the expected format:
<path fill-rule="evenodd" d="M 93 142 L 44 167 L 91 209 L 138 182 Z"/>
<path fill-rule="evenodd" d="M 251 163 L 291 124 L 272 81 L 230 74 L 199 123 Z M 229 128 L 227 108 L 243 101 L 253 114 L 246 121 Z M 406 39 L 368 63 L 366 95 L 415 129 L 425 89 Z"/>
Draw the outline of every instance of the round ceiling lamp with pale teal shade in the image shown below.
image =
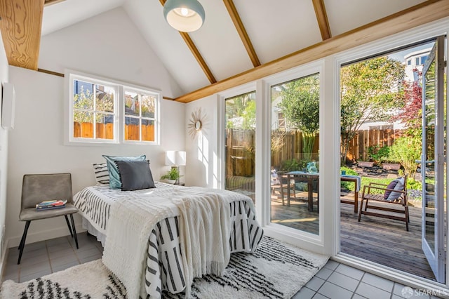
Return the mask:
<path fill-rule="evenodd" d="M 177 31 L 192 32 L 203 26 L 206 13 L 199 1 L 167 0 L 163 6 L 163 16 Z"/>

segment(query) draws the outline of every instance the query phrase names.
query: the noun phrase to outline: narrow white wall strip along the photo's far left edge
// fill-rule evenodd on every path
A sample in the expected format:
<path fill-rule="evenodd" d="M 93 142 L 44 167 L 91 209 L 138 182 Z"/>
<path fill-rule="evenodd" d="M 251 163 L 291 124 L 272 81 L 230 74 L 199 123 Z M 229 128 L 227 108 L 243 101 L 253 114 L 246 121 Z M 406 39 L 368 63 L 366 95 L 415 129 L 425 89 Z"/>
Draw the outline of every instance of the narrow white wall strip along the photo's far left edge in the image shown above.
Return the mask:
<path fill-rule="evenodd" d="M 1 35 L 0 35 L 1 36 Z M 0 83 L 8 82 L 8 60 L 6 59 L 3 40 L 0 38 Z M 1 103 L 0 93 L 0 103 Z M 0 105 L 0 115 L 2 109 Z M 0 116 L 1 121 L 1 116 Z M 4 239 L 3 227 L 6 222 L 6 178 L 8 171 L 8 131 L 0 127 L 0 271 L 3 269 L 3 260 L 6 246 L 1 241 Z"/>

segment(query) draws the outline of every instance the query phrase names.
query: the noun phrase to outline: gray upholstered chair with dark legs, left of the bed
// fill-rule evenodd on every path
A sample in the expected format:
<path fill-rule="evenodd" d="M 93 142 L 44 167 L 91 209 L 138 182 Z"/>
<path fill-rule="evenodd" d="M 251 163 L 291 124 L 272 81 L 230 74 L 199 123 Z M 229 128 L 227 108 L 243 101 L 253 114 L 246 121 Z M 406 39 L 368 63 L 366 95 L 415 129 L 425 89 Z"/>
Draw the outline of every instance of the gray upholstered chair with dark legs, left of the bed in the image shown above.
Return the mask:
<path fill-rule="evenodd" d="M 36 204 L 47 200 L 67 200 L 65 208 L 57 208 L 48 211 L 36 211 Z M 23 230 L 22 239 L 19 245 L 19 259 L 22 258 L 23 248 L 25 248 L 25 239 L 32 220 L 48 219 L 58 216 L 65 216 L 65 221 L 69 227 L 72 238 L 75 238 L 76 248 L 78 247 L 78 239 L 76 238 L 75 223 L 73 214 L 78 209 L 73 205 L 72 200 L 72 175 L 70 173 L 50 173 L 50 174 L 30 174 L 23 176 L 22 182 L 22 202 L 20 207 L 20 221 L 26 221 L 25 230 Z M 69 218 L 72 220 L 70 227 Z M 73 229 L 73 232 L 72 232 Z"/>

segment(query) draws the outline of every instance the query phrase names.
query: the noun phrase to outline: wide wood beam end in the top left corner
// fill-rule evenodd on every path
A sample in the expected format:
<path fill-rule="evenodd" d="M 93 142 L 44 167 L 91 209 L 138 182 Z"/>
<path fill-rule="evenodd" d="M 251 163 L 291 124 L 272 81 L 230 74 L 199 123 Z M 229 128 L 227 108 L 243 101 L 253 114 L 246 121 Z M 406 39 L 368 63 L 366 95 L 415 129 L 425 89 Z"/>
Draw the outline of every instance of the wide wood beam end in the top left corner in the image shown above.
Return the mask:
<path fill-rule="evenodd" d="M 37 69 L 42 13 L 43 0 L 0 1 L 0 30 L 9 65 Z"/>

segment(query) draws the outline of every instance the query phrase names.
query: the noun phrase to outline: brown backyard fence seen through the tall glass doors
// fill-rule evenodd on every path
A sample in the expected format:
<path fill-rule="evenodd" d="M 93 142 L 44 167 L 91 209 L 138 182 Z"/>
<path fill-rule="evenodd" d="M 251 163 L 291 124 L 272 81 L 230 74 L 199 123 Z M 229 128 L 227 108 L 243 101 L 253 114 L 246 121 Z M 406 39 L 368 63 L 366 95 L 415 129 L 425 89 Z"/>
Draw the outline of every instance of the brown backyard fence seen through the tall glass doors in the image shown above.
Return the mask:
<path fill-rule="evenodd" d="M 251 176 L 255 173 L 255 131 L 226 131 L 226 173 L 229 175 Z M 348 161 L 369 161 L 368 148 L 379 145 L 391 146 L 401 137 L 403 131 L 394 129 L 361 130 L 349 143 Z M 302 133 L 300 131 L 273 131 L 271 165 L 279 168 L 284 161 L 295 159 L 301 161 Z M 319 161 L 319 135 L 316 135 L 311 159 Z"/>

